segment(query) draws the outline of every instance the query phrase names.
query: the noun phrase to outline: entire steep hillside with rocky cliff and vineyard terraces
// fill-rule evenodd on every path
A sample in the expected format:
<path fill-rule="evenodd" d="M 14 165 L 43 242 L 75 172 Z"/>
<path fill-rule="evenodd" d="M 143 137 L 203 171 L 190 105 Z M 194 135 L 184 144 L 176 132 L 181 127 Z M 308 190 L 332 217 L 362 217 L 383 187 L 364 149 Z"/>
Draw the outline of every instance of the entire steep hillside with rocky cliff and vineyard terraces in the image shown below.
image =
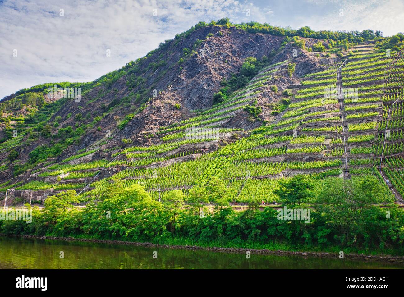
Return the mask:
<path fill-rule="evenodd" d="M 199 24 L 94 82 L 4 98 L 0 204 L 71 189 L 86 204 L 136 183 L 187 197 L 216 179 L 233 204 L 279 203 L 295 175 L 314 183 L 309 204 L 324 179 L 357 176 L 402 204 L 402 36 L 299 30 Z M 55 85 L 81 98 L 49 96 Z"/>

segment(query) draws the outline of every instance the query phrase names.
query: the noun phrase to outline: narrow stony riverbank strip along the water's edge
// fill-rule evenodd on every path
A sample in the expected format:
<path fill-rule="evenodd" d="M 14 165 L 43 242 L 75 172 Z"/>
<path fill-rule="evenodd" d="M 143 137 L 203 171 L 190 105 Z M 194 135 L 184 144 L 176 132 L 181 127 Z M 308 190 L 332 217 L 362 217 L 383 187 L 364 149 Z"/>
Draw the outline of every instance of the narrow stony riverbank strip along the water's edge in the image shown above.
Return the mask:
<path fill-rule="evenodd" d="M 7 236 L 0 234 L 0 236 Z M 248 248 L 234 248 L 234 247 L 211 247 L 211 246 L 196 246 L 196 245 L 176 245 L 176 244 L 161 244 L 152 242 L 130 242 L 122 240 L 101 240 L 92 238 L 74 238 L 74 237 L 57 237 L 57 236 L 35 236 L 35 235 L 22 235 L 13 236 L 22 238 L 36 238 L 36 239 L 49 239 L 49 240 L 65 240 L 65 241 L 80 241 L 80 242 L 94 242 L 94 243 L 104 243 L 104 244 L 120 244 L 120 245 L 133 245 L 133 246 L 144 246 L 144 247 L 157 247 L 166 249 L 186 249 L 186 250 L 201 250 L 201 251 L 212 251 L 221 253 L 243 253 L 250 252 L 251 254 L 260 255 L 294 255 L 301 257 L 320 257 L 329 259 L 339 259 L 339 253 L 330 252 L 314 252 L 314 251 L 282 251 L 282 250 L 268 250 L 268 249 L 248 249 Z M 364 261 L 383 261 L 389 263 L 404 263 L 404 257 L 401 256 L 391 256 L 391 255 L 365 255 L 358 253 L 345 253 L 344 259 L 356 259 Z"/>

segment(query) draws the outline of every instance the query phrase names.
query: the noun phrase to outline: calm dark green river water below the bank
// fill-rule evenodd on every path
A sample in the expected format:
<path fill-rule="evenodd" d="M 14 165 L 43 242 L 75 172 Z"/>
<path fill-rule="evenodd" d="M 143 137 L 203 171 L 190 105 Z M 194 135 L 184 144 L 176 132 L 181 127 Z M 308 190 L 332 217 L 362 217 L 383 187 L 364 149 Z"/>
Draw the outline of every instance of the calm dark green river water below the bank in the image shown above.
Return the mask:
<path fill-rule="evenodd" d="M 60 252 L 64 259 L 60 259 Z M 157 252 L 157 259 L 153 257 Z M 218 253 L 0 236 L 0 269 L 403 269 L 351 259 Z"/>

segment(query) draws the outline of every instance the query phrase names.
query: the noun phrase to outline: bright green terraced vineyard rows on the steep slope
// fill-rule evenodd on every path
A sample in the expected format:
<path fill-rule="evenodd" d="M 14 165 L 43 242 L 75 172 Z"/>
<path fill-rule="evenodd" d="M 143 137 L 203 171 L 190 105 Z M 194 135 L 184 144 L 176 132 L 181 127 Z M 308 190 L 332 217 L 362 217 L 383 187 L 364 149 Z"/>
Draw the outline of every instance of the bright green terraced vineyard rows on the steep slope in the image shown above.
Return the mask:
<path fill-rule="evenodd" d="M 161 126 L 150 136 L 152 145 L 107 152 L 88 147 L 33 169 L 27 183 L 2 184 L 0 192 L 32 190 L 32 200 L 44 200 L 75 189 L 84 203 L 114 187 L 140 183 L 158 199 L 160 191 L 181 189 L 187 195 L 218 178 L 230 202 L 272 203 L 279 201 L 274 191 L 280 181 L 294 175 L 312 179 L 315 195 L 325 177 L 369 175 L 383 186 L 383 202 L 402 203 L 404 60 L 401 52 L 386 56 L 372 47 L 355 46 L 353 55 L 277 91 L 284 95 L 277 109 L 271 106 L 272 121 L 258 128 L 243 129 L 232 121 L 246 116 L 256 121 L 260 100 L 274 92 L 279 77 L 288 76 L 292 60 L 272 63 L 227 99 Z M 93 158 L 96 154 L 101 158 Z"/>

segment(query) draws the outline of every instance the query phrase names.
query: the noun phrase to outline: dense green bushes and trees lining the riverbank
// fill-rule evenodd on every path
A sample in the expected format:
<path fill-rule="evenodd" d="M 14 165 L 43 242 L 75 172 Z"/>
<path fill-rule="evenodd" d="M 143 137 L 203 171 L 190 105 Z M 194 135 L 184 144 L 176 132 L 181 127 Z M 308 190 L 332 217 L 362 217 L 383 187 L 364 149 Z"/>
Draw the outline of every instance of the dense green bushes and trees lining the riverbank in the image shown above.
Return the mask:
<path fill-rule="evenodd" d="M 285 180 L 278 190 L 284 205 L 307 209 L 312 196 L 311 182 L 303 176 Z M 292 190 L 291 190 L 292 189 Z M 318 200 L 311 209 L 310 222 L 280 220 L 275 209 L 259 210 L 257 201 L 248 209 L 235 212 L 223 207 L 223 183 L 212 180 L 205 187 L 194 187 L 187 198 L 181 190 L 168 192 L 162 202 L 152 199 L 139 184 L 126 189 L 114 187 L 114 192 L 101 202 L 74 209 L 74 191 L 49 197 L 44 210 L 33 209 L 32 223 L 22 220 L 0 221 L 1 233 L 53 236 L 87 236 L 90 238 L 158 241 L 181 237 L 193 242 L 243 241 L 267 243 L 281 240 L 290 246 L 332 249 L 370 249 L 402 254 L 404 212 L 396 205 L 375 206 L 381 194 L 377 179 L 325 179 Z M 216 203 L 213 213 L 206 202 Z M 187 207 L 184 207 L 187 204 Z M 389 211 L 389 215 L 386 215 Z M 307 221 L 307 220 L 306 220 Z"/>

